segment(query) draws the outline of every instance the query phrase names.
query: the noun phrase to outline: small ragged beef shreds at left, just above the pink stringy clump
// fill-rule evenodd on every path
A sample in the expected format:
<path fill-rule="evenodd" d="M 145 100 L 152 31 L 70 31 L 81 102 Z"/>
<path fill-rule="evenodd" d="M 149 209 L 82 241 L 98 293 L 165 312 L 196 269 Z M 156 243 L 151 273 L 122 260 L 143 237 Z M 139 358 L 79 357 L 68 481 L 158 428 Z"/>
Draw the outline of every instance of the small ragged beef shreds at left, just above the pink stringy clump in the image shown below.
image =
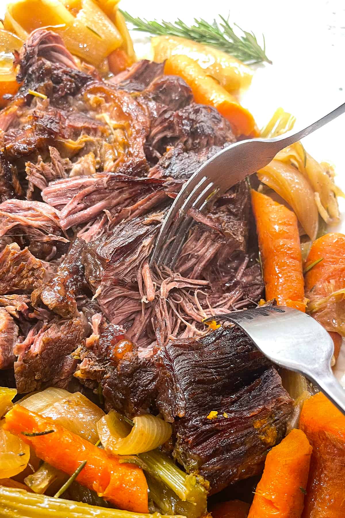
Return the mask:
<path fill-rule="evenodd" d="M 26 162 L 25 172 L 28 180 L 27 199 L 31 199 L 35 187 L 42 191 L 49 182 L 59 178 L 67 178 L 67 172 L 71 165 L 69 159 L 62 159 L 56 148 L 49 146 L 51 162 L 44 163 L 41 156 L 38 156 L 36 164 Z"/>

